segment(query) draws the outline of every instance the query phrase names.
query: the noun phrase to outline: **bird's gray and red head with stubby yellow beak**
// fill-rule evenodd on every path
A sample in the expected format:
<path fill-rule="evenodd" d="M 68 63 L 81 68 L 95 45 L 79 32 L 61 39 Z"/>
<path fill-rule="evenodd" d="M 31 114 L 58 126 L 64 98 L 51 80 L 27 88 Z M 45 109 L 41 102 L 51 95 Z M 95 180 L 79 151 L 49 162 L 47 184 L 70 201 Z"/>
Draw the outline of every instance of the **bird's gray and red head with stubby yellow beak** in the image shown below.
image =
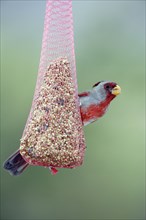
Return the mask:
<path fill-rule="evenodd" d="M 115 82 L 100 81 L 93 85 L 93 92 L 98 100 L 109 99 L 111 101 L 121 93 L 121 88 Z"/>

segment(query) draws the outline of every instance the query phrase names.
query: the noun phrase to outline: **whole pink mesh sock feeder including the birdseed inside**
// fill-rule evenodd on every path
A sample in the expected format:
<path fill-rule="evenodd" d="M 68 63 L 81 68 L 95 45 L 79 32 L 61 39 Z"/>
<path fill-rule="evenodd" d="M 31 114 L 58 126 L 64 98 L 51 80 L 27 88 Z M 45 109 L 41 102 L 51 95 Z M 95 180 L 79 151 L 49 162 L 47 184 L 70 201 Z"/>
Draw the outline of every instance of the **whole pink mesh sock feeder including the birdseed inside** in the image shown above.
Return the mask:
<path fill-rule="evenodd" d="M 72 2 L 47 1 L 34 99 L 20 153 L 32 165 L 73 168 L 83 162 Z"/>

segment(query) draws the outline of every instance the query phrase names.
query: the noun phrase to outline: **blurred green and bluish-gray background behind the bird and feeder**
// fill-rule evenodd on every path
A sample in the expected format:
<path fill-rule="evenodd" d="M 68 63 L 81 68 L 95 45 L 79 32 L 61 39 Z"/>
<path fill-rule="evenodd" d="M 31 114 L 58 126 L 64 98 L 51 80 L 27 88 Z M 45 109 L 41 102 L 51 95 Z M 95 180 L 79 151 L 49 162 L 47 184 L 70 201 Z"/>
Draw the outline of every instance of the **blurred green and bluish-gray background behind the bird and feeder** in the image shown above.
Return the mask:
<path fill-rule="evenodd" d="M 45 1 L 1 1 L 1 161 L 19 147 L 39 65 Z M 84 128 L 83 166 L 1 172 L 1 219 L 144 219 L 145 1 L 73 1 L 79 91 L 122 94 Z"/>

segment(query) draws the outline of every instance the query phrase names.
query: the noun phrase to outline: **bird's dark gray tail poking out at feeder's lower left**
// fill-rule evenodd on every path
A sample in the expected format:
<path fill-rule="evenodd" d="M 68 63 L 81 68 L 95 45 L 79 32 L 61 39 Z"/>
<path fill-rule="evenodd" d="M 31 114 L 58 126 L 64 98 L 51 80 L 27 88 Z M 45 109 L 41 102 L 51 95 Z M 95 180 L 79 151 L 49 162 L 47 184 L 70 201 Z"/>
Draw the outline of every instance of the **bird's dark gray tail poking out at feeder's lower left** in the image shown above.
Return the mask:
<path fill-rule="evenodd" d="M 20 175 L 27 166 L 28 163 L 23 159 L 19 150 L 4 162 L 4 169 L 8 170 L 14 176 Z"/>

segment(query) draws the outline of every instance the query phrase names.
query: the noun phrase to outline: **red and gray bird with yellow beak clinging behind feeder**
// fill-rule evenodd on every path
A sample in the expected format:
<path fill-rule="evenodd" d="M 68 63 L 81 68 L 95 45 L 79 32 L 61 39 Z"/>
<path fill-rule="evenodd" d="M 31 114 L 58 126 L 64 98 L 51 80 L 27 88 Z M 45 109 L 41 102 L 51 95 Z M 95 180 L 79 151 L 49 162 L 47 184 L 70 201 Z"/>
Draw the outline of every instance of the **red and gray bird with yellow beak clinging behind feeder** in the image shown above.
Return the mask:
<path fill-rule="evenodd" d="M 100 81 L 89 91 L 79 94 L 80 113 L 83 125 L 88 125 L 102 117 L 111 101 L 121 92 L 115 82 Z M 29 164 L 23 159 L 19 150 L 10 156 L 4 163 L 4 168 L 11 175 L 20 175 Z M 54 171 L 56 172 L 56 171 Z"/>

